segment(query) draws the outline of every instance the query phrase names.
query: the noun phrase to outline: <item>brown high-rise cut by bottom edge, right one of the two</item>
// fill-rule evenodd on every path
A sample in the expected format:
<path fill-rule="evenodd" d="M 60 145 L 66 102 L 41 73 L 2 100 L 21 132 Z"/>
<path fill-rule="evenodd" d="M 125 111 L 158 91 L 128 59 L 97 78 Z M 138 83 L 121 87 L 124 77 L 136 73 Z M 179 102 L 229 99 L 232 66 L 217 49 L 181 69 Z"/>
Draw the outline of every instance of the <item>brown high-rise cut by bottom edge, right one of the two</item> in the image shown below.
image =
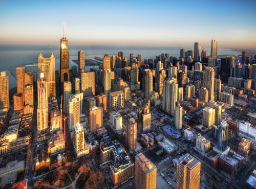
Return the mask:
<path fill-rule="evenodd" d="M 190 154 L 183 155 L 176 166 L 176 189 L 200 188 L 201 162 Z"/>

